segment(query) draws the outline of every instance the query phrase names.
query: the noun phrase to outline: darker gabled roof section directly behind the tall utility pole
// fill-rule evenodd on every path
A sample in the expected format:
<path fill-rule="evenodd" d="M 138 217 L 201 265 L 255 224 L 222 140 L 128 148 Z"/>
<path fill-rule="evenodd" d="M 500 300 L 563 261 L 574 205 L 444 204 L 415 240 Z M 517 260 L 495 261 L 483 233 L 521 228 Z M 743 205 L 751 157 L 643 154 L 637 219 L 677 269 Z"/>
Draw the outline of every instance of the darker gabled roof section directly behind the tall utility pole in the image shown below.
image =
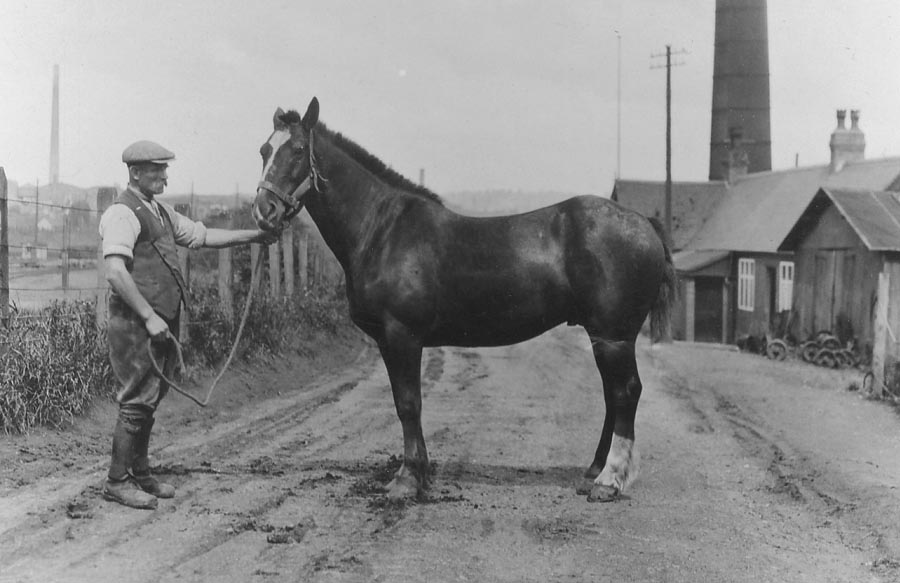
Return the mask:
<path fill-rule="evenodd" d="M 672 183 L 672 240 L 675 249 L 684 248 L 697 234 L 725 195 L 724 182 Z M 663 220 L 665 182 L 616 180 L 612 199 L 647 217 Z"/>

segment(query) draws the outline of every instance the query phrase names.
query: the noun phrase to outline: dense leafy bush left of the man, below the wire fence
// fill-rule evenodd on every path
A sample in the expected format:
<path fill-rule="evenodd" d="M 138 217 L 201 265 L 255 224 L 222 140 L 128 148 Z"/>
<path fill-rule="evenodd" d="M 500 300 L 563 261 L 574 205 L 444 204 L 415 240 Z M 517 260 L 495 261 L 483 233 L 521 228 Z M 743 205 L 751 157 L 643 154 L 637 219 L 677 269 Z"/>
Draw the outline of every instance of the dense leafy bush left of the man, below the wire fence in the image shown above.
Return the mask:
<path fill-rule="evenodd" d="M 0 329 L 0 429 L 59 427 L 116 381 L 93 302 L 54 302 Z"/>

